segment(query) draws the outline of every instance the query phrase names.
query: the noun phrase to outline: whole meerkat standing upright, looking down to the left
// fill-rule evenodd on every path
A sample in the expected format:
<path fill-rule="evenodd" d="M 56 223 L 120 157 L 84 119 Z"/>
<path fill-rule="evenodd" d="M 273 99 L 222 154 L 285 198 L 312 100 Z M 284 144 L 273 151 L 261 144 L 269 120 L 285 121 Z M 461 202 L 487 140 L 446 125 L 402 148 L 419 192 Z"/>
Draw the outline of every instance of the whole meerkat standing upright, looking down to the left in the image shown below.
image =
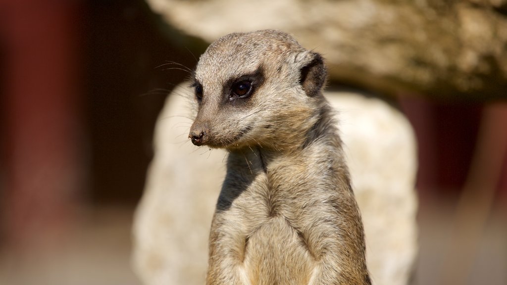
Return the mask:
<path fill-rule="evenodd" d="M 326 75 L 320 54 L 276 30 L 201 55 L 189 138 L 229 153 L 206 284 L 371 284 Z"/>

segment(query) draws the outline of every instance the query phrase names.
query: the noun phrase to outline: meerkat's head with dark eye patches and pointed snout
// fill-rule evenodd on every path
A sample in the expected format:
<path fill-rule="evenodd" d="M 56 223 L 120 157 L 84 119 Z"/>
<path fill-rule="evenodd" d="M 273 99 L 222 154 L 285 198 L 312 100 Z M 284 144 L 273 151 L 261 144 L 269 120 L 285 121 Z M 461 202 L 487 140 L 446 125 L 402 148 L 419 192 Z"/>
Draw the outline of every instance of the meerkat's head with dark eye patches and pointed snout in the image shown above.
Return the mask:
<path fill-rule="evenodd" d="M 228 34 L 197 64 L 189 138 L 231 151 L 300 146 L 318 120 L 325 77 L 320 54 L 284 32 Z"/>

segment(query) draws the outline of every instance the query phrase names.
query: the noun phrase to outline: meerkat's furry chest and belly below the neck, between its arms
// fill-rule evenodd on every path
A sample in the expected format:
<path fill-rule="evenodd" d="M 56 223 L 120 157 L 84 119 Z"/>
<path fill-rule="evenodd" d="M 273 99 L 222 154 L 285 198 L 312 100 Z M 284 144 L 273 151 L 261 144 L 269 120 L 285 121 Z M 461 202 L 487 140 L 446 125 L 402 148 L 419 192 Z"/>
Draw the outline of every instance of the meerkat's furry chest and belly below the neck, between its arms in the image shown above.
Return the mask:
<path fill-rule="evenodd" d="M 312 223 L 309 208 L 325 197 L 315 195 L 320 174 L 312 165 L 300 156 L 267 169 L 229 168 L 215 230 L 228 233 L 251 284 L 307 284 L 314 272 L 315 249 L 305 231 Z"/>

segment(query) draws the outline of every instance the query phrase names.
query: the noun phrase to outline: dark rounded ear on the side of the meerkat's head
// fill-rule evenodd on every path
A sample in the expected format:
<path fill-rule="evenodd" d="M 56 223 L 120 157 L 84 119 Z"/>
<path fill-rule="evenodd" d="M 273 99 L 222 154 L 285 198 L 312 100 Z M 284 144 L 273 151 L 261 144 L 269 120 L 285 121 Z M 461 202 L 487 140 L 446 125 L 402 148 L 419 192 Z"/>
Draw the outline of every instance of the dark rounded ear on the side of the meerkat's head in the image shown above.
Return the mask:
<path fill-rule="evenodd" d="M 312 59 L 301 69 L 299 83 L 306 92 L 306 95 L 313 97 L 317 95 L 324 85 L 327 71 L 322 56 L 316 52 L 310 52 Z"/>

